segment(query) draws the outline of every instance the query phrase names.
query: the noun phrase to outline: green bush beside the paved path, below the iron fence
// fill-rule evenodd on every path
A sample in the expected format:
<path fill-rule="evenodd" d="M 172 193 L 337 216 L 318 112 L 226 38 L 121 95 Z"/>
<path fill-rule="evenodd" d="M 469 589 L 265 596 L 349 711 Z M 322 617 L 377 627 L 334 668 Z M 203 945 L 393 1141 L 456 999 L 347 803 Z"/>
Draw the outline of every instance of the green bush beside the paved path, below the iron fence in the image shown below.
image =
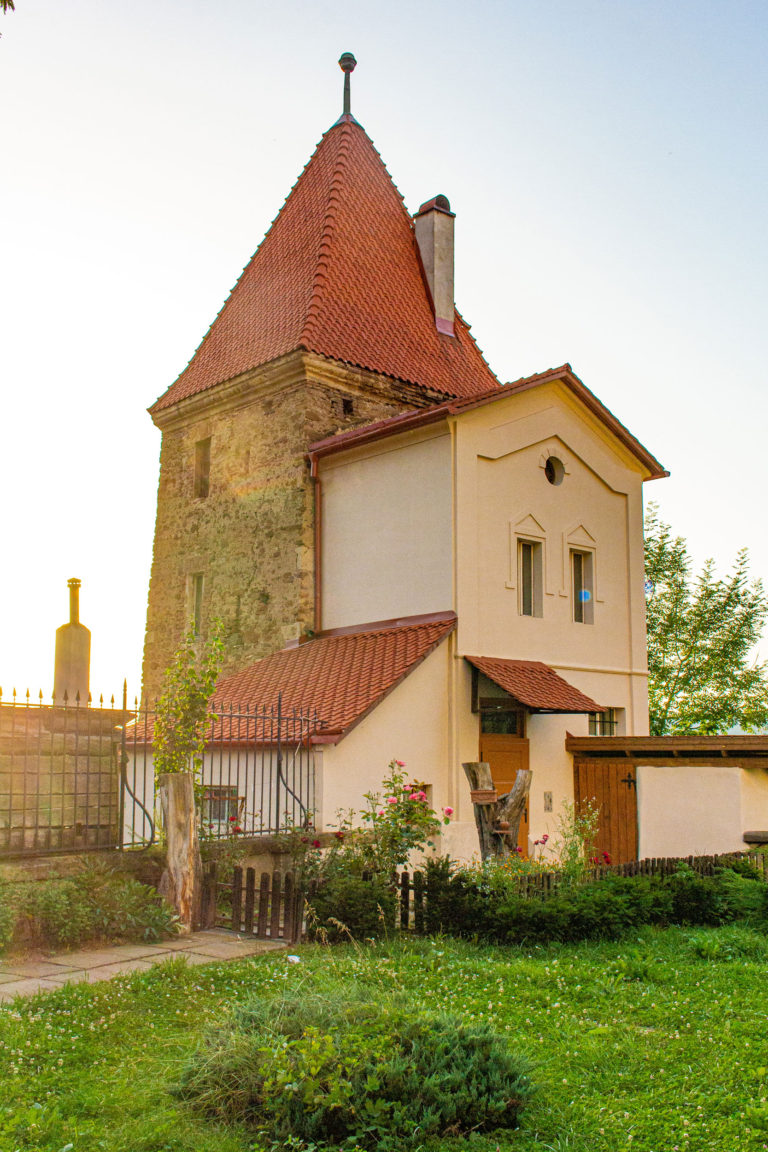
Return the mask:
<path fill-rule="evenodd" d="M 68 948 L 90 940 L 157 940 L 175 930 L 173 909 L 157 892 L 98 863 L 67 879 L 6 887 L 0 947 Z M 10 931 L 3 932 L 3 922 Z"/>

